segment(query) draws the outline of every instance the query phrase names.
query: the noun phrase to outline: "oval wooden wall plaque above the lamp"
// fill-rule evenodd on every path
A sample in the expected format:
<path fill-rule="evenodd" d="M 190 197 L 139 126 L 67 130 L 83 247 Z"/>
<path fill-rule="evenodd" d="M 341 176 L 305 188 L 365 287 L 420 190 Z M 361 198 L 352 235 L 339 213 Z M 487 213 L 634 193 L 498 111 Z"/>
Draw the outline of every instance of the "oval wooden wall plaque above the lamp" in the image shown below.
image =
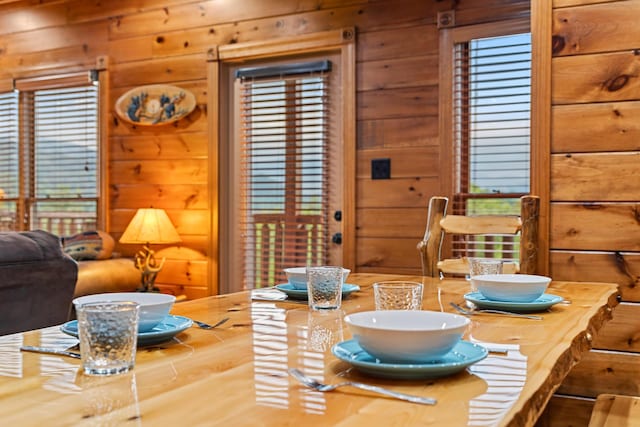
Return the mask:
<path fill-rule="evenodd" d="M 131 89 L 116 101 L 116 113 L 128 123 L 153 126 L 175 122 L 196 107 L 186 89 L 171 85 L 148 85 Z"/>

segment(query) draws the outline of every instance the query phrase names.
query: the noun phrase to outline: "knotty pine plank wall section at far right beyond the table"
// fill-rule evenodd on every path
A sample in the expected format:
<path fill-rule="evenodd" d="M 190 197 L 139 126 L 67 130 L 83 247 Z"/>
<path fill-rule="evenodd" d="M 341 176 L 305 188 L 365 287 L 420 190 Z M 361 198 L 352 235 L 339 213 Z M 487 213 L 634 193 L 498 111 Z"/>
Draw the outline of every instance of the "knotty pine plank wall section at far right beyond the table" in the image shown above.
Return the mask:
<path fill-rule="evenodd" d="M 640 395 L 640 1 L 554 0 L 550 272 L 622 302 L 540 425 L 586 426 L 601 393 Z"/>

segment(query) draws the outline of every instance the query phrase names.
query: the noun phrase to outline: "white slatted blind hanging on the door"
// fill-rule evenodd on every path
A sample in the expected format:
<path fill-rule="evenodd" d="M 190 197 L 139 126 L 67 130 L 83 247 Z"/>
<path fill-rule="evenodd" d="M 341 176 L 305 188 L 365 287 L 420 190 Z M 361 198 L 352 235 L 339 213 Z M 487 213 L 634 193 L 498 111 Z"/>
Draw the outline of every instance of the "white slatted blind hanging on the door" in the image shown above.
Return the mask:
<path fill-rule="evenodd" d="M 245 287 L 286 282 L 285 267 L 326 264 L 329 91 L 326 61 L 316 64 L 324 71 L 313 64 L 241 77 Z"/>

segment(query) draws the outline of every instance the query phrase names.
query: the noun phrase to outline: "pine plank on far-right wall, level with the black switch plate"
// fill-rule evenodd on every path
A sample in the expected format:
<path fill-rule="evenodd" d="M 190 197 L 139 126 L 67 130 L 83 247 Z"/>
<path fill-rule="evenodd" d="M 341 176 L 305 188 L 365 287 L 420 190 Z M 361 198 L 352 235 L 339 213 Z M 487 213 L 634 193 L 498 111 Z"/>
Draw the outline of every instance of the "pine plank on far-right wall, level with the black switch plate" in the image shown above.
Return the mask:
<path fill-rule="evenodd" d="M 635 200 L 640 190 L 632 182 L 640 183 L 640 152 L 551 156 L 552 200 Z"/>

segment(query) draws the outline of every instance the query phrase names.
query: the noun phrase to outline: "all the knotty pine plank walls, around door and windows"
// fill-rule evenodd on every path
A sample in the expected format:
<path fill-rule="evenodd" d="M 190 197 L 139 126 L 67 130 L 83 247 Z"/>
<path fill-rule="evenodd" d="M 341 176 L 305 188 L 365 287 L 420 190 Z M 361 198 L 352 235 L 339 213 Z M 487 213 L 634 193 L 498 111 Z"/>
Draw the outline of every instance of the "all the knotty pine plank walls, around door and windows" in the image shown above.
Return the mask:
<path fill-rule="evenodd" d="M 440 177 L 450 173 L 438 139 L 436 26 L 437 12 L 450 9 L 457 25 L 499 25 L 527 16 L 529 1 L 2 1 L 0 81 L 105 61 L 109 231 L 119 238 L 138 207 L 165 208 L 184 243 L 164 252 L 158 281 L 165 290 L 199 297 L 217 291 L 207 274 L 218 249 L 210 244 L 217 196 L 210 177 L 217 165 L 208 141 L 217 129 L 207 114 L 217 106 L 207 104 L 207 60 L 221 45 L 355 27 L 355 269 L 417 274 L 415 245 L 427 201 L 444 193 Z M 567 396 L 549 405 L 541 420 L 549 425 L 584 425 L 601 392 L 638 393 L 638 16 L 638 0 L 553 0 L 550 190 L 540 194 L 550 204 L 550 272 L 560 280 L 616 281 L 623 303 L 596 339 L 599 350 L 561 388 Z M 113 114 L 119 96 L 153 83 L 189 89 L 196 111 L 172 125 L 144 128 Z M 370 161 L 381 157 L 391 159 L 392 176 L 373 181 Z"/>

